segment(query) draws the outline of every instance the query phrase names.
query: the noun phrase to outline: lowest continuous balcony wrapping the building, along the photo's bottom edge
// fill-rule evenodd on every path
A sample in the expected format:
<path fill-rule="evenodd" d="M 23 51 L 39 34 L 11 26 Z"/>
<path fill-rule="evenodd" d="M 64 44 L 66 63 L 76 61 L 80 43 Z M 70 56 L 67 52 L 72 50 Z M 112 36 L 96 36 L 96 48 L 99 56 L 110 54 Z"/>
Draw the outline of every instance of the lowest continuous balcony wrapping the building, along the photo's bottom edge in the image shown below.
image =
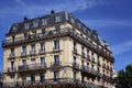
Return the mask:
<path fill-rule="evenodd" d="M 55 81 L 54 78 L 52 79 L 44 79 L 43 81 L 41 80 L 35 80 L 35 81 L 14 81 L 14 82 L 4 82 L 3 88 L 48 88 L 48 87 L 56 87 L 56 88 L 100 88 L 98 85 L 94 85 L 87 81 L 81 81 L 78 79 L 73 79 L 73 78 L 58 78 L 58 81 Z"/>

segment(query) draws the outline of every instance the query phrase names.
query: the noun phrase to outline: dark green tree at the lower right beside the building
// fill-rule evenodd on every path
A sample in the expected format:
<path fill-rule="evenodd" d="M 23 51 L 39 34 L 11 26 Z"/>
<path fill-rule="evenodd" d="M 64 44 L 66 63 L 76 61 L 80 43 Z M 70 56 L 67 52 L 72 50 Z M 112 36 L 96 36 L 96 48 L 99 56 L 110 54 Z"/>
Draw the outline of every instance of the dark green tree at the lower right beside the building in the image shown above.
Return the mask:
<path fill-rule="evenodd" d="M 116 88 L 132 88 L 132 65 L 128 65 L 125 70 L 120 70 L 114 80 Z"/>

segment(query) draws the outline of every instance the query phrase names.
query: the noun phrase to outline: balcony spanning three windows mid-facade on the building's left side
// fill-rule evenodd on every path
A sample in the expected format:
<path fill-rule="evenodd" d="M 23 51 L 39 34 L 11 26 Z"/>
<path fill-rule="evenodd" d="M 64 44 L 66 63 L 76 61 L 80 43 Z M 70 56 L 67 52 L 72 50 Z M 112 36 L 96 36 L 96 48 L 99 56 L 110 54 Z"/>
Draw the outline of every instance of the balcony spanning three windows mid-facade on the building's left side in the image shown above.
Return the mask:
<path fill-rule="evenodd" d="M 41 70 L 46 68 L 46 63 L 37 63 L 37 64 L 30 64 L 30 65 L 20 65 L 18 67 L 19 72 L 28 72 L 28 70 Z"/>

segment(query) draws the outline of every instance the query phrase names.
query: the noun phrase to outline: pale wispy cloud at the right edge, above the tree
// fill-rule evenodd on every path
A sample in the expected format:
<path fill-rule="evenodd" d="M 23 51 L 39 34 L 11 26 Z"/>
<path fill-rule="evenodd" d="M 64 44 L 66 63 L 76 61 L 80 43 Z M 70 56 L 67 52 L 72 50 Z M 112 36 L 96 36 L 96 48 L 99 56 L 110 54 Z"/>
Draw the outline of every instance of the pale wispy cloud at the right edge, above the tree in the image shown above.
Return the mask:
<path fill-rule="evenodd" d="M 111 46 L 111 48 L 114 55 L 123 54 L 125 52 L 132 51 L 132 41 Z"/>

